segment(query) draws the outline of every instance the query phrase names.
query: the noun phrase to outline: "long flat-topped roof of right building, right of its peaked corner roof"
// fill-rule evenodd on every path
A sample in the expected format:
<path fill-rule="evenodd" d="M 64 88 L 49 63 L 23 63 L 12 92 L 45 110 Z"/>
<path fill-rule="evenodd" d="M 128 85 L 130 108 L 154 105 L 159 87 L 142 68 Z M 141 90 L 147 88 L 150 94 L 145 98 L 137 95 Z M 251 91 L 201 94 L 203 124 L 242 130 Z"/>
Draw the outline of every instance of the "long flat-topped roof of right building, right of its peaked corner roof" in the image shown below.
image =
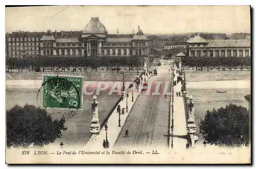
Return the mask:
<path fill-rule="evenodd" d="M 208 47 L 250 47 L 249 39 L 227 39 L 227 40 L 210 40 Z"/>

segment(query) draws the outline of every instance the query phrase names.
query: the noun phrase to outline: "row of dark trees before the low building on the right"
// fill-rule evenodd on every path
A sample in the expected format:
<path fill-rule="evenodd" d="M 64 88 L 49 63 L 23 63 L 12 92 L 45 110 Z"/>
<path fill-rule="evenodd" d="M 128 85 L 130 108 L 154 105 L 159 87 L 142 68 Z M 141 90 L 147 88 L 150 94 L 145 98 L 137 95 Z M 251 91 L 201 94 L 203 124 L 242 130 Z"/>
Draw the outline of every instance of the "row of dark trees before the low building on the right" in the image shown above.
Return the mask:
<path fill-rule="evenodd" d="M 241 67 L 243 70 L 244 66 L 251 66 L 251 57 L 184 57 L 182 64 L 189 67 Z"/>

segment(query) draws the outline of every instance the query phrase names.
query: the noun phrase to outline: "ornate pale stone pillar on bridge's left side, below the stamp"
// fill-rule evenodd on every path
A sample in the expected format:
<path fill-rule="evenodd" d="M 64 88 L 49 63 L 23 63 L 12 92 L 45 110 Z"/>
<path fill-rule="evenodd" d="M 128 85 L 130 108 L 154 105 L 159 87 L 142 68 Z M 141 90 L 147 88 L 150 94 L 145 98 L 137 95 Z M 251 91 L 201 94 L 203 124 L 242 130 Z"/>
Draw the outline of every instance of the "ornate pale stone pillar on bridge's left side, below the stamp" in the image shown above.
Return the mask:
<path fill-rule="evenodd" d="M 93 96 L 93 102 L 92 105 L 92 112 L 93 112 L 93 118 L 91 120 L 91 126 L 90 126 L 90 132 L 91 132 L 91 138 L 97 136 L 100 131 L 100 125 L 99 125 L 99 117 L 98 117 L 98 104 L 97 97 Z"/>

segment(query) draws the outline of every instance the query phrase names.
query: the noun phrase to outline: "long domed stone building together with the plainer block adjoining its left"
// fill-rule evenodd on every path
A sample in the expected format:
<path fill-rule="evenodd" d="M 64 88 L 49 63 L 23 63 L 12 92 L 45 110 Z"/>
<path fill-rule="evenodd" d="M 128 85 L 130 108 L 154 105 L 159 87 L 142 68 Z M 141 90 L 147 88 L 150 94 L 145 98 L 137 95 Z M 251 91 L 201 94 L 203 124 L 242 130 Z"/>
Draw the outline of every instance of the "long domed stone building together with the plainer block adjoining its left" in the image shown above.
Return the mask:
<path fill-rule="evenodd" d="M 83 31 L 7 34 L 8 57 L 138 57 L 140 65 L 150 52 L 150 41 L 140 26 L 136 34 L 108 34 L 98 17 Z"/>

